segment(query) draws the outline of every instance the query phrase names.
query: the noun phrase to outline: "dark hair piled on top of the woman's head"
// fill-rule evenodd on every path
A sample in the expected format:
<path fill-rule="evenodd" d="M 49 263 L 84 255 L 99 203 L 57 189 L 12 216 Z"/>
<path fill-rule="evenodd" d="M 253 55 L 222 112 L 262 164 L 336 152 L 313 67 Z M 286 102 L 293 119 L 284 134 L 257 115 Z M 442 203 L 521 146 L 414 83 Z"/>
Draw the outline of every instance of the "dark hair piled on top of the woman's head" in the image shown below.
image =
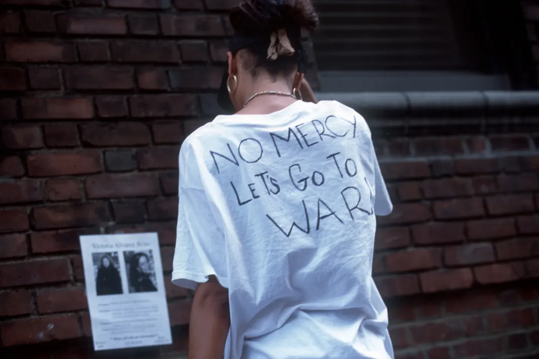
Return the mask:
<path fill-rule="evenodd" d="M 310 0 L 250 0 L 230 12 L 230 22 L 237 32 L 271 32 L 299 26 L 314 30 L 319 18 Z"/>

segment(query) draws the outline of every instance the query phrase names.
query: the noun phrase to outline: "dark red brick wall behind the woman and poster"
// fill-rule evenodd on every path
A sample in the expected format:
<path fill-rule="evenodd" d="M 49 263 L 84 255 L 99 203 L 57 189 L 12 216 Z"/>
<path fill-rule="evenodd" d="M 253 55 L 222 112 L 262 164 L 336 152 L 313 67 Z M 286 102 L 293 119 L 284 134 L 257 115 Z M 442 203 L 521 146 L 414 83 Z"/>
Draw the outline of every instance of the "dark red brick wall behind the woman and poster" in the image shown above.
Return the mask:
<path fill-rule="evenodd" d="M 135 231 L 159 233 L 175 342 L 111 355 L 184 353 L 191 293 L 168 284 L 177 152 L 216 112 L 236 2 L 4 0 L 3 357 L 108 357 L 92 349 L 78 236 Z M 400 358 L 539 353 L 539 130 L 507 128 L 379 131 L 396 205 L 374 273 Z"/>

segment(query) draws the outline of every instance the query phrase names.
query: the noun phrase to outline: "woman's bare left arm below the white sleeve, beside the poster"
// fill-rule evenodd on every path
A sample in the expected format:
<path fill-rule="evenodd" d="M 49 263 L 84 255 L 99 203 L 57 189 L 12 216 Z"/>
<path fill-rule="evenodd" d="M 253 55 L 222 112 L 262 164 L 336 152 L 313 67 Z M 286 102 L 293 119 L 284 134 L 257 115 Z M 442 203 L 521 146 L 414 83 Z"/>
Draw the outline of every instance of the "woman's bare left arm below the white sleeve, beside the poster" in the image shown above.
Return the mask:
<path fill-rule="evenodd" d="M 189 320 L 188 359 L 222 359 L 229 329 L 229 291 L 215 277 L 210 277 L 195 290 Z"/>

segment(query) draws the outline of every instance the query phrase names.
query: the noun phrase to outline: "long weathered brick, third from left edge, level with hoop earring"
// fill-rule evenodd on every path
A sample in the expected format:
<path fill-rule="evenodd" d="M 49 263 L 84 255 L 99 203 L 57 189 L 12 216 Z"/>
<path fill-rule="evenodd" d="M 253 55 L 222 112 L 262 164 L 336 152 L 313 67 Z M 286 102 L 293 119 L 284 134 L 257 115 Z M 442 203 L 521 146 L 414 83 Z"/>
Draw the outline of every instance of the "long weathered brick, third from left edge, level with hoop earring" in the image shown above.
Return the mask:
<path fill-rule="evenodd" d="M 72 89 L 132 89 L 133 70 L 119 66 L 77 66 L 64 71 L 67 88 Z"/>

